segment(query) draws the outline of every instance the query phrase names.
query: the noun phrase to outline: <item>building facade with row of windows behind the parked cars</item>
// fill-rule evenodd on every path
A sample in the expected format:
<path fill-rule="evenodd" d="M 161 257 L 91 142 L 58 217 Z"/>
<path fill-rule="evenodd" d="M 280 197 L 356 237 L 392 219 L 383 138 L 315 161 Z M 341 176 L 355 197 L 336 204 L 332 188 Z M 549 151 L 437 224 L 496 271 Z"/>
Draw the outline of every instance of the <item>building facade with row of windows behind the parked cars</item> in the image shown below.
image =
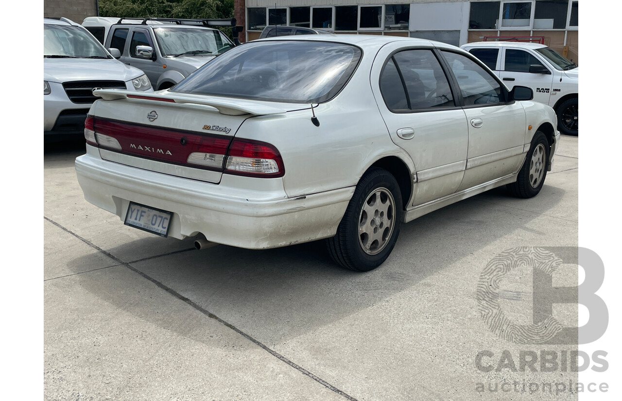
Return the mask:
<path fill-rule="evenodd" d="M 266 25 L 417 37 L 457 46 L 488 37 L 541 37 L 545 45 L 578 63 L 578 0 L 235 0 L 234 4 L 238 25 L 244 26 L 241 39 L 246 41 L 258 39 Z"/>

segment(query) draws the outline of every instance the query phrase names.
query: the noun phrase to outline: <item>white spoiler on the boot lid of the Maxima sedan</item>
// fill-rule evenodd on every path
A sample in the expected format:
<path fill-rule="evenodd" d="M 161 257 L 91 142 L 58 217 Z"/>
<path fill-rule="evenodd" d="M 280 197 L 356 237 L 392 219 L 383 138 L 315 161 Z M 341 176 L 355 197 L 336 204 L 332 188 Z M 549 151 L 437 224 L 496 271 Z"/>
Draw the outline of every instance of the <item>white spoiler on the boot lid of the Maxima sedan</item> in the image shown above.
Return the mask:
<path fill-rule="evenodd" d="M 128 91 L 124 89 L 95 89 L 95 96 L 100 96 L 104 100 L 129 99 L 137 102 L 167 102 L 177 104 L 198 104 L 200 106 L 210 106 L 218 109 L 220 114 L 227 116 L 242 116 L 244 114 L 253 114 L 253 116 L 268 116 L 270 114 L 287 113 L 287 110 L 280 109 L 265 104 L 253 103 L 244 100 L 228 100 L 215 98 L 212 96 L 187 95 L 183 93 L 144 93 Z"/>

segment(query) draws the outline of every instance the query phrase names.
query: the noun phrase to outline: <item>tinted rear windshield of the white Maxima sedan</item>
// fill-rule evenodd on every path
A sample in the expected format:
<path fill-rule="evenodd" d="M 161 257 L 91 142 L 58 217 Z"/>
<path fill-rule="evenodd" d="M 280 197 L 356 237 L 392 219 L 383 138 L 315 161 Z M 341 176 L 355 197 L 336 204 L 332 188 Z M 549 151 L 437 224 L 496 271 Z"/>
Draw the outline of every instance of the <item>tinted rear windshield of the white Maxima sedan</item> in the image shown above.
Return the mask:
<path fill-rule="evenodd" d="M 343 88 L 358 47 L 298 40 L 250 42 L 216 57 L 172 91 L 285 103 L 322 103 Z"/>

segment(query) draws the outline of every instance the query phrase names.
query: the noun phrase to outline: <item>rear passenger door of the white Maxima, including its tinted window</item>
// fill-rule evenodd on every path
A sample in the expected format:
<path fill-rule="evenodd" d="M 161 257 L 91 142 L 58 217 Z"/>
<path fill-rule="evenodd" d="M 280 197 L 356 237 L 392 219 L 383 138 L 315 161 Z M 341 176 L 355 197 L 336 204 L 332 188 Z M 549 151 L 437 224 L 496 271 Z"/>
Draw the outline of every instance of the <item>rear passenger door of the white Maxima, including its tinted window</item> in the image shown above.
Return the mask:
<path fill-rule="evenodd" d="M 415 164 L 413 205 L 421 205 L 460 186 L 468 129 L 435 50 L 403 46 L 397 42 L 381 49 L 371 85 L 392 141 Z"/>

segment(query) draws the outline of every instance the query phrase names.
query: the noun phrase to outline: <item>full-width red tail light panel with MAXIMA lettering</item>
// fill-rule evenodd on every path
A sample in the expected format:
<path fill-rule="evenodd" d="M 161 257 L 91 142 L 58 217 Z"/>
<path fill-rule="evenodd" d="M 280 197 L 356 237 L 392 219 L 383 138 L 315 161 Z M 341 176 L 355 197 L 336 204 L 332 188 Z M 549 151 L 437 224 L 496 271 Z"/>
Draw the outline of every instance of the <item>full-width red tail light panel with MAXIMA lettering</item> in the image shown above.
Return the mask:
<path fill-rule="evenodd" d="M 247 177 L 285 175 L 279 150 L 266 142 L 141 126 L 93 116 L 86 118 L 84 136 L 91 145 L 144 159 Z"/>

